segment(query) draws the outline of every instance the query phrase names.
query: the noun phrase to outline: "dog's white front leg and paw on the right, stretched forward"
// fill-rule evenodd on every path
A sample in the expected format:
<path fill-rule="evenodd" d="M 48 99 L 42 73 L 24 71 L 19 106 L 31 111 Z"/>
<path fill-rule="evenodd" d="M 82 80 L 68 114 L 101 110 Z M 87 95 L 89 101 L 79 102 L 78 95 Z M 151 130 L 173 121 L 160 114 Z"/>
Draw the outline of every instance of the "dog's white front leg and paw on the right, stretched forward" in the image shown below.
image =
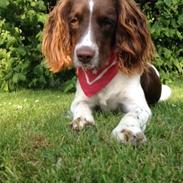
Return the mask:
<path fill-rule="evenodd" d="M 127 113 L 117 127 L 112 131 L 112 136 L 124 144 L 143 144 L 146 141 L 144 130 L 151 117 L 148 105 L 126 104 Z"/>

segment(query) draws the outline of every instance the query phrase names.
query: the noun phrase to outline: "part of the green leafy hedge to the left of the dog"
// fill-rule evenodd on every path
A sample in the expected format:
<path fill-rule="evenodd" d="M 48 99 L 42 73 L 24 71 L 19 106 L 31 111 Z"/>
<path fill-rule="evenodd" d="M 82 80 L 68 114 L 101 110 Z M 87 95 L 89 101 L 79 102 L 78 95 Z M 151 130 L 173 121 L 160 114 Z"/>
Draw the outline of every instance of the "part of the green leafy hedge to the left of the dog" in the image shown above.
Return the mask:
<path fill-rule="evenodd" d="M 0 88 L 44 88 L 60 84 L 46 69 L 40 53 L 46 1 L 0 3 Z"/>

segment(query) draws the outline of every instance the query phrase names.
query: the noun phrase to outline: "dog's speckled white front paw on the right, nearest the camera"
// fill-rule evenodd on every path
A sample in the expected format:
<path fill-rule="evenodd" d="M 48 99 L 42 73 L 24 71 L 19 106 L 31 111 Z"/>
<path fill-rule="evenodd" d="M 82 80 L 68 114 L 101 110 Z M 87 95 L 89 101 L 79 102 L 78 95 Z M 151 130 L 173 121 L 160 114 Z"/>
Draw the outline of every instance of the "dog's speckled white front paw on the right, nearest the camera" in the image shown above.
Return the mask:
<path fill-rule="evenodd" d="M 130 129 L 122 129 L 121 131 L 113 130 L 112 138 L 123 144 L 141 145 L 146 142 L 146 137 L 142 131 L 132 131 Z"/>

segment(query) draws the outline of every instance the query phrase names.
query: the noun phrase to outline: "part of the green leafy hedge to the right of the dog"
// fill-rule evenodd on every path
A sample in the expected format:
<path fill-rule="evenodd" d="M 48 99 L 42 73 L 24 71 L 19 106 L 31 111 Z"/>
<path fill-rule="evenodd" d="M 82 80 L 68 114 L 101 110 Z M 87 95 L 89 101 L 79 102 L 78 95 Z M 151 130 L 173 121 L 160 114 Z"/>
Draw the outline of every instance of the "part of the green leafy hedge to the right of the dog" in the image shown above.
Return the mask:
<path fill-rule="evenodd" d="M 144 6 L 154 40 L 155 65 L 164 79 L 170 72 L 183 74 L 183 3 L 182 0 L 158 0 Z"/>

